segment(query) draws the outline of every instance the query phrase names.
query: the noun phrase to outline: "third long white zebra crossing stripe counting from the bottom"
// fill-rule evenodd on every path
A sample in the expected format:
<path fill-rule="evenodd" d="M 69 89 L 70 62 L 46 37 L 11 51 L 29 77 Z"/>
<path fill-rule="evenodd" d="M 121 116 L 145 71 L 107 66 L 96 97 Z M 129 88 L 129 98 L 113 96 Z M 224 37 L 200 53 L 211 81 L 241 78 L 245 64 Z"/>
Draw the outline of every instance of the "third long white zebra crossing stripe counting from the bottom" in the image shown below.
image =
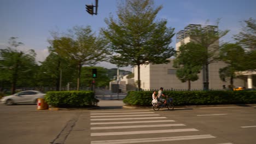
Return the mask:
<path fill-rule="evenodd" d="M 177 127 L 185 126 L 185 124 L 154 124 L 154 125 L 129 125 L 129 126 L 114 126 L 114 127 L 91 127 L 94 129 L 128 129 L 128 128 L 154 128 L 154 127 Z"/>

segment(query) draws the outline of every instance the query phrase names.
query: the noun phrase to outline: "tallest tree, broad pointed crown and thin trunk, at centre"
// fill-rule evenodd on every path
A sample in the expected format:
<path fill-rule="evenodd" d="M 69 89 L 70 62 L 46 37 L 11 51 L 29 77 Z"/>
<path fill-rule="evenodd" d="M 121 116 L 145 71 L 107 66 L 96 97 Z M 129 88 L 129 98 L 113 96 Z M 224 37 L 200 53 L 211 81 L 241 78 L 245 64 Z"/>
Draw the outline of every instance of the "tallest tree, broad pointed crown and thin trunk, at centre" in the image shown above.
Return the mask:
<path fill-rule="evenodd" d="M 118 67 L 128 65 L 138 68 L 138 89 L 141 89 L 140 65 L 168 63 L 174 55 L 170 47 L 174 28 L 167 28 L 167 20 L 156 21 L 162 6 L 154 8 L 154 1 L 127 0 L 118 7 L 118 19 L 106 19 L 107 28 L 102 33 L 109 40 L 114 53 L 111 63 Z"/>

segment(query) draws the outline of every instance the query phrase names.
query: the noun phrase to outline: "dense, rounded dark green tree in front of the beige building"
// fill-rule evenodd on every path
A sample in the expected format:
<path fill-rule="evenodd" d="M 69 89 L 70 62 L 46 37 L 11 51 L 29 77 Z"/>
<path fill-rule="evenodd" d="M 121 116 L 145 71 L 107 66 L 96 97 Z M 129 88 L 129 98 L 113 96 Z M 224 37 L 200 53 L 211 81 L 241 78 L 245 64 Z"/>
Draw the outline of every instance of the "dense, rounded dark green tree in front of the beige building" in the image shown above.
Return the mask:
<path fill-rule="evenodd" d="M 173 67 L 177 68 L 176 76 L 182 82 L 188 81 L 188 89 L 191 88 L 191 81 L 199 79 L 197 74 L 207 59 L 207 51 L 200 44 L 193 42 L 179 47 L 174 59 Z"/>

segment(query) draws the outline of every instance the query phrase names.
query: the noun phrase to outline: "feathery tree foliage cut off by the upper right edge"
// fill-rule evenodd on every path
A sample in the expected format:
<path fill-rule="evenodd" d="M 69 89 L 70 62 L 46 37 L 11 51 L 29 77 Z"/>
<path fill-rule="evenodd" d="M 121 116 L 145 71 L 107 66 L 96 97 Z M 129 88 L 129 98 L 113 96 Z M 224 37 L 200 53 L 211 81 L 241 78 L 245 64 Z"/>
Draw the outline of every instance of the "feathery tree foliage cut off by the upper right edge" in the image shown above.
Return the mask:
<path fill-rule="evenodd" d="M 234 39 L 246 49 L 256 50 L 256 19 L 243 21 L 242 31 L 234 35 Z"/>

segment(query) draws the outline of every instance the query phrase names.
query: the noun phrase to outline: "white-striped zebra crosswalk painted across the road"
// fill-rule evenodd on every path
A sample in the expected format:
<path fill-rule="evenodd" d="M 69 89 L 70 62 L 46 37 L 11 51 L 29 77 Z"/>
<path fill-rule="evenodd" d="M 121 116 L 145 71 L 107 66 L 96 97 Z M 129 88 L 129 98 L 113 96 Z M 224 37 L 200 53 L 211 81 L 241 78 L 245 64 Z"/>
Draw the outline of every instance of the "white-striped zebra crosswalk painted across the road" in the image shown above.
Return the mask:
<path fill-rule="evenodd" d="M 91 111 L 90 130 L 91 144 L 168 143 L 169 141 L 173 143 L 217 138 L 150 110 Z"/>

